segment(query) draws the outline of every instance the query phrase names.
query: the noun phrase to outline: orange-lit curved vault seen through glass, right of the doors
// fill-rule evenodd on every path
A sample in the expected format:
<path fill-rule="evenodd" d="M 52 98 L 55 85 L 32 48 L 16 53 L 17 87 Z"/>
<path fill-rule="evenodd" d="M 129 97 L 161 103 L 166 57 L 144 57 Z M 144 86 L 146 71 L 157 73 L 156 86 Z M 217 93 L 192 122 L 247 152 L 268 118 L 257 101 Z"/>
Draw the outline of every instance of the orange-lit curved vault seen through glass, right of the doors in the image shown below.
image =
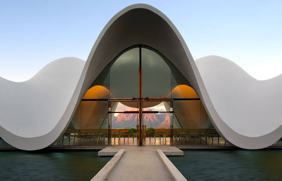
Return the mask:
<path fill-rule="evenodd" d="M 176 86 L 172 90 L 173 97 L 177 98 L 199 98 L 195 90 L 187 85 Z"/>

